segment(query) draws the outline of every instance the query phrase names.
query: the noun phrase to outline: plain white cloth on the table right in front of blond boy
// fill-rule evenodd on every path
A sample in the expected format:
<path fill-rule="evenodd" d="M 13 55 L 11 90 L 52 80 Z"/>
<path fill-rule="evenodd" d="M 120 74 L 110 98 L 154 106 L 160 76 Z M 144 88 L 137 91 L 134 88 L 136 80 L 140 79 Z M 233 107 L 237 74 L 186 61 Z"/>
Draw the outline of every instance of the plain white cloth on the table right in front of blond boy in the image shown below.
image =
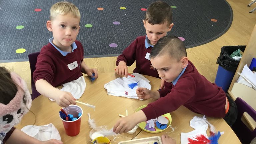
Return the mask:
<path fill-rule="evenodd" d="M 70 92 L 75 99 L 80 99 L 84 93 L 86 83 L 84 77 L 81 76 L 76 80 L 63 84 L 62 91 Z M 54 101 L 53 99 L 50 99 Z"/>

